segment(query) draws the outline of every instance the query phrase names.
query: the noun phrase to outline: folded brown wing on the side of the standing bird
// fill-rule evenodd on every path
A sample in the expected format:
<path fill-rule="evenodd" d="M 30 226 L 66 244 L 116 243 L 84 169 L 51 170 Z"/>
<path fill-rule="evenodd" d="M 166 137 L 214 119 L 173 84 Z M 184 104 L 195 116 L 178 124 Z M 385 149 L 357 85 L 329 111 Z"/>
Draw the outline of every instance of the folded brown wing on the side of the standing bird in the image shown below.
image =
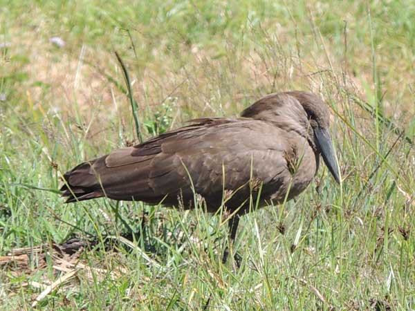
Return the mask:
<path fill-rule="evenodd" d="M 196 122 L 81 164 L 68 181 L 110 198 L 156 202 L 167 194 L 191 196 L 192 188 L 202 196 L 237 189 L 252 173 L 263 182 L 284 175 L 284 131 L 250 120 Z"/>

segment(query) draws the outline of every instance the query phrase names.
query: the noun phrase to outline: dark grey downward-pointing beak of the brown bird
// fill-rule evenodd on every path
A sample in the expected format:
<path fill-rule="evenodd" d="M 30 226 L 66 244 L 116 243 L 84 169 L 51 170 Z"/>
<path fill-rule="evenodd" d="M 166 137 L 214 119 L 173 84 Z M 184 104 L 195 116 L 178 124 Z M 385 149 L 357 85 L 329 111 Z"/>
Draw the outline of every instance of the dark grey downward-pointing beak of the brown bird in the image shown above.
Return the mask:
<path fill-rule="evenodd" d="M 338 184 L 340 184 L 340 173 L 337 161 L 335 160 L 335 152 L 333 144 L 331 143 L 331 137 L 329 131 L 326 129 L 315 129 L 314 130 L 315 138 L 317 139 L 318 148 L 322 154 L 324 163 L 329 168 L 331 175 Z"/>

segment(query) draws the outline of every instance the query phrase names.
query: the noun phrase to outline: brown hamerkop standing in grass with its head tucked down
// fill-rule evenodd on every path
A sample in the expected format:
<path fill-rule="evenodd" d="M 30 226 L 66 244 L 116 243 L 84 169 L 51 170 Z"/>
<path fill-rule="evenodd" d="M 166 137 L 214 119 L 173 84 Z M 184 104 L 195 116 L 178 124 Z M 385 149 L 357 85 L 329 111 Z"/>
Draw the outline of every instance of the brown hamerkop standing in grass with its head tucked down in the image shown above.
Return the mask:
<path fill-rule="evenodd" d="M 340 181 L 329 115 L 328 106 L 312 93 L 270 94 L 240 118 L 192 120 L 142 144 L 83 162 L 64 174 L 62 195 L 66 202 L 104 196 L 185 209 L 199 198 L 210 212 L 220 207 L 230 212 L 232 242 L 250 202 L 259 196 L 261 207 L 300 194 L 317 173 L 320 154 Z M 228 247 L 223 262 L 227 256 Z"/>

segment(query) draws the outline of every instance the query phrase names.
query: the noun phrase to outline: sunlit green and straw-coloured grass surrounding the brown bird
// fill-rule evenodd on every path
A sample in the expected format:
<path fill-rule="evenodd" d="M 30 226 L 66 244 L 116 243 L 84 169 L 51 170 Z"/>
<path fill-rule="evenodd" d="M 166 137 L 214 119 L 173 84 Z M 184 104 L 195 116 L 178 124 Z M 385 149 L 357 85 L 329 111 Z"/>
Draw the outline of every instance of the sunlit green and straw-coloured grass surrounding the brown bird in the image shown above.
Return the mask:
<path fill-rule="evenodd" d="M 0 256 L 37 245 L 44 256 L 1 264 L 1 309 L 30 309 L 42 285 L 75 271 L 36 308 L 200 310 L 212 296 L 211 310 L 415 310 L 414 6 L 3 3 Z M 244 216 L 239 270 L 220 263 L 221 216 L 104 199 L 64 205 L 55 190 L 66 169 L 137 141 L 114 50 L 145 138 L 192 117 L 236 116 L 274 91 L 320 94 L 344 182 L 321 167 L 297 200 Z M 138 241 L 122 239 L 115 215 Z M 99 241 L 76 270 L 62 261 L 73 257 L 51 252 L 71 236 Z"/>

